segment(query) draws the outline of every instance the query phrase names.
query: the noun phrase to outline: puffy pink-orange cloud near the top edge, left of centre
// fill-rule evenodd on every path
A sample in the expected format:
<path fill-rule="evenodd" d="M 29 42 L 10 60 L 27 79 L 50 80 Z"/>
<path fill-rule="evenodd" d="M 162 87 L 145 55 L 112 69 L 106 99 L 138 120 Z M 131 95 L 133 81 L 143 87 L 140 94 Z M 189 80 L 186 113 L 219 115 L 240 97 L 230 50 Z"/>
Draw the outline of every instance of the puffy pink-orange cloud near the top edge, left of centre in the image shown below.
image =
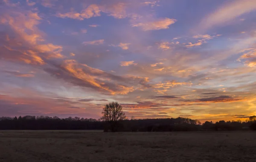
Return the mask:
<path fill-rule="evenodd" d="M 76 11 L 70 11 L 64 14 L 58 13 L 56 14 L 57 17 L 61 18 L 71 18 L 71 19 L 77 19 L 77 20 L 84 20 L 84 19 L 89 19 L 91 17 L 98 17 L 100 16 L 101 10 L 99 9 L 99 6 L 96 4 L 92 4 L 88 6 L 86 9 L 83 9 L 81 13 L 78 13 Z"/>

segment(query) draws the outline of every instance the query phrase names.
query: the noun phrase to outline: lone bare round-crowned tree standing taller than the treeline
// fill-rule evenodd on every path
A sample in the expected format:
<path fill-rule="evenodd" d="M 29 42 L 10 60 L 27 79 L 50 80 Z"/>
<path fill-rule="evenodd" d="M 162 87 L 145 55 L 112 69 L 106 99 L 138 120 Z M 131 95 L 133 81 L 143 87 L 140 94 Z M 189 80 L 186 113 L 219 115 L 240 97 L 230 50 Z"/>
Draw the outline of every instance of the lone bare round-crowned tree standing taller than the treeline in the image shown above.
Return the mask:
<path fill-rule="evenodd" d="M 110 102 L 102 109 L 102 120 L 110 124 L 111 131 L 116 131 L 117 122 L 126 118 L 122 105 L 118 102 Z"/>

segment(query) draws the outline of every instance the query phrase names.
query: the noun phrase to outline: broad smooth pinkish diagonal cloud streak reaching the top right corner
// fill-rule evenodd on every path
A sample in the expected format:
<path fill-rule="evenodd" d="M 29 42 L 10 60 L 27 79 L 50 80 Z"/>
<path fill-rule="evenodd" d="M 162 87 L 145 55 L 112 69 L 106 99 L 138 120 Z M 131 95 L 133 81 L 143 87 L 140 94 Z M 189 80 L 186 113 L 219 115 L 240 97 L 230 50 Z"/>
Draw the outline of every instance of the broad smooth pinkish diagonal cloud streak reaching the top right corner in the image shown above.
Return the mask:
<path fill-rule="evenodd" d="M 205 17 L 199 28 L 207 30 L 215 26 L 225 26 L 235 18 L 256 10 L 255 0 L 235 0 L 227 3 Z"/>

